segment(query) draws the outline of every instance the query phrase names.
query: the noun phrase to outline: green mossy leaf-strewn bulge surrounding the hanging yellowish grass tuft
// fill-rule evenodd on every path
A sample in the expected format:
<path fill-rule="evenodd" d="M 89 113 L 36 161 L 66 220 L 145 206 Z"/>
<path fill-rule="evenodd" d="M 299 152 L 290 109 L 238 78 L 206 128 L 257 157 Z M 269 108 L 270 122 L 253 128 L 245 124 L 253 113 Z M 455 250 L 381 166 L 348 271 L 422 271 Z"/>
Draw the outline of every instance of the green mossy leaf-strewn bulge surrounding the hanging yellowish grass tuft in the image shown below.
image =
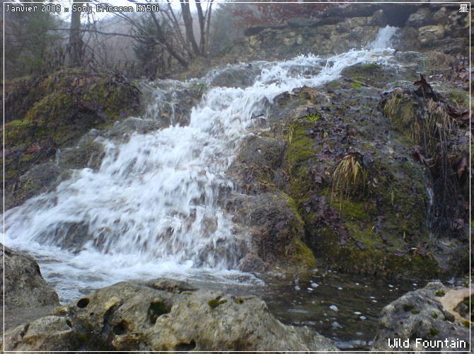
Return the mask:
<path fill-rule="evenodd" d="M 290 114 L 284 128 L 291 134 L 283 168 L 284 190 L 296 201 L 304 221 L 304 242 L 316 259 L 349 273 L 439 275 L 437 262 L 424 247 L 430 241 L 424 166 L 409 155 L 394 159 L 393 149 L 405 151 L 400 142 L 376 147 L 357 132 L 355 122 L 322 111 L 315 116 L 319 118 L 301 118 L 297 110 Z M 353 130 L 357 137 L 339 137 L 342 130 Z M 364 185 L 351 195 L 335 194 L 333 184 L 344 149 L 366 157 Z"/>

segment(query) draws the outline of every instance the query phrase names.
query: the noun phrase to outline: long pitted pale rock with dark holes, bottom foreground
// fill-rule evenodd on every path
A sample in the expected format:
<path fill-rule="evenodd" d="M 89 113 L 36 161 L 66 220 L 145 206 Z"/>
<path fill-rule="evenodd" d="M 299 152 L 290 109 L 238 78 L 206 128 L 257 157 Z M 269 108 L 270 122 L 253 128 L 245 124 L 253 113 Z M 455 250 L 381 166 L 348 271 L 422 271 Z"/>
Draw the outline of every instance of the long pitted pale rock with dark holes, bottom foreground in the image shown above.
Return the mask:
<path fill-rule="evenodd" d="M 257 297 L 185 282 L 119 282 L 6 333 L 6 350 L 337 350 L 285 326 Z"/>

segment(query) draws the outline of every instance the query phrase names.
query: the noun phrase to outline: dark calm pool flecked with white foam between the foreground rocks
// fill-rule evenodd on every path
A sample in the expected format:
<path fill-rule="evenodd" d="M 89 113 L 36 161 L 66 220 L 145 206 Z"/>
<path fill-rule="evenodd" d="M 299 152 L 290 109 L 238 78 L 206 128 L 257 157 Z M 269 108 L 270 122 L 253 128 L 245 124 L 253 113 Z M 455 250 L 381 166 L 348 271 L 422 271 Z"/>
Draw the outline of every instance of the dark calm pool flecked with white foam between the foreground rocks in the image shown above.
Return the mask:
<path fill-rule="evenodd" d="M 308 326 L 333 339 L 337 348 L 366 350 L 374 339 L 381 309 L 427 282 L 376 280 L 315 270 L 301 278 L 265 280 L 259 295 L 284 324 Z"/>

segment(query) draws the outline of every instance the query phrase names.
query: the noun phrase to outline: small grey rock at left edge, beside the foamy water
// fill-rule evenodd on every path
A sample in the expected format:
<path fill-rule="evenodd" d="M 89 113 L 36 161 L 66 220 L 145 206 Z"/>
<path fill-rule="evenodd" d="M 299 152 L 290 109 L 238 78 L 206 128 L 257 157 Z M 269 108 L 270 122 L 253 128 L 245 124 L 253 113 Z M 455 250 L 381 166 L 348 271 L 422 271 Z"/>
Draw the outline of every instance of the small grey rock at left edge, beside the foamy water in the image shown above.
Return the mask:
<path fill-rule="evenodd" d="M 3 245 L 0 246 L 5 260 L 5 268 L 3 263 L 0 264 L 1 273 L 5 275 L 5 307 L 59 305 L 57 293 L 42 278 L 35 259 L 8 247 L 4 252 Z"/>

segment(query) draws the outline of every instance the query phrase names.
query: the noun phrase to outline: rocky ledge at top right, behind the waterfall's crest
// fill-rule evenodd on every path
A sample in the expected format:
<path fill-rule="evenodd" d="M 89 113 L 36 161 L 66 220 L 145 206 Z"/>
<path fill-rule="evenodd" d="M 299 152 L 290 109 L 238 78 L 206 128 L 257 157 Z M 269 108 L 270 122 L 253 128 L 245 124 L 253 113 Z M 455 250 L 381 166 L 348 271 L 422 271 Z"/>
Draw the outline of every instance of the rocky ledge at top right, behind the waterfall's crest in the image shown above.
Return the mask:
<path fill-rule="evenodd" d="M 289 55 L 334 55 L 376 38 L 380 28 L 401 28 L 398 50 L 437 50 L 468 55 L 469 16 L 457 4 L 350 4 L 328 8 L 319 20 L 294 18 L 287 25 L 258 25 L 245 30 L 230 54 L 252 59 Z"/>

